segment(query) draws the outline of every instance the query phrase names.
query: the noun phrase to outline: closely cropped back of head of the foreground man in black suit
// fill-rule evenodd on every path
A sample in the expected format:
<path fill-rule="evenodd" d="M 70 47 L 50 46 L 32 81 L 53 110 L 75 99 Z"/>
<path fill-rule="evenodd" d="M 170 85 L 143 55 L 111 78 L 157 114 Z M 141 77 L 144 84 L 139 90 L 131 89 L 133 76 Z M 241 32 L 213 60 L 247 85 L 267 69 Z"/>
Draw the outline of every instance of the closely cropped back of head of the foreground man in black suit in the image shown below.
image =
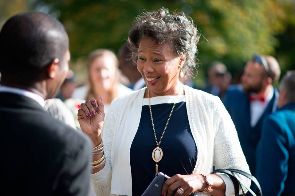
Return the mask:
<path fill-rule="evenodd" d="M 41 12 L 11 17 L 0 32 L 0 72 L 3 85 L 31 86 L 46 79 L 54 59 L 63 61 L 69 39 L 57 19 Z"/>

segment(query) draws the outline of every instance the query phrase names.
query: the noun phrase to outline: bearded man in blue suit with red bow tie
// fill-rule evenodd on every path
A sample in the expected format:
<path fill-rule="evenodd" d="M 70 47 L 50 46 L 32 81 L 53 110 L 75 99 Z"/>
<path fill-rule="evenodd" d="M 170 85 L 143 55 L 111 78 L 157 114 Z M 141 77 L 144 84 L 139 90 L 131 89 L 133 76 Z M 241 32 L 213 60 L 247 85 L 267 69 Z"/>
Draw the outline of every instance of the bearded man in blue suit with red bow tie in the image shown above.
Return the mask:
<path fill-rule="evenodd" d="M 224 105 L 233 119 L 243 152 L 255 175 L 255 152 L 264 117 L 277 108 L 278 92 L 272 84 L 281 74 L 272 56 L 254 55 L 244 68 L 242 88 L 231 88 Z"/>

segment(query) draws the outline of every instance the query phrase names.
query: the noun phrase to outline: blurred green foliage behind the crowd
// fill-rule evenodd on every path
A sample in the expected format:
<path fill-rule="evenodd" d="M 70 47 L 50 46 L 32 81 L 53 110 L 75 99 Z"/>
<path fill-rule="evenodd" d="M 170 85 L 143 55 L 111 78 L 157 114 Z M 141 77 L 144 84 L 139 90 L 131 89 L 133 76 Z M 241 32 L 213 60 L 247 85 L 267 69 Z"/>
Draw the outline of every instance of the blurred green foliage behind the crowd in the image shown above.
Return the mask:
<path fill-rule="evenodd" d="M 197 82 L 211 62 L 222 61 L 236 72 L 255 52 L 276 57 L 282 74 L 295 69 L 293 0 L 27 0 L 27 5 L 65 25 L 73 62 L 97 48 L 117 52 L 138 14 L 164 6 L 190 15 L 203 35 Z"/>

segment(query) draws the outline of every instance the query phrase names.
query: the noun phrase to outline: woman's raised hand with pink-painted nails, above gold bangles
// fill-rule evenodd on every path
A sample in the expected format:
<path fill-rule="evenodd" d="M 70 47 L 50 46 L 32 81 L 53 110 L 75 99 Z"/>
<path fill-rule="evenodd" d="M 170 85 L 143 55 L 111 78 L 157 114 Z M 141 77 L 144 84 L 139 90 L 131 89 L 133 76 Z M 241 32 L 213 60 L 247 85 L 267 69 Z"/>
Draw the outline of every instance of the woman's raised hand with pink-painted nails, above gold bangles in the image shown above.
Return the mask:
<path fill-rule="evenodd" d="M 90 99 L 81 104 L 78 110 L 78 121 L 82 131 L 87 134 L 96 146 L 100 143 L 100 132 L 104 125 L 104 105 L 101 97 L 98 100 Z"/>

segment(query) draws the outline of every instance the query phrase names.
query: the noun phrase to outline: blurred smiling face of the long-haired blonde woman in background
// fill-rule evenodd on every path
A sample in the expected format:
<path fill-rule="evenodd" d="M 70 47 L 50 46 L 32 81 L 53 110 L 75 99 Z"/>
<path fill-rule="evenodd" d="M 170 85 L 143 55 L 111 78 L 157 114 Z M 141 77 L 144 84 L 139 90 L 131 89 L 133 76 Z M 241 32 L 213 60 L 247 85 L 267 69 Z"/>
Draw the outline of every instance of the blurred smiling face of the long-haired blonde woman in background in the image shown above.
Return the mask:
<path fill-rule="evenodd" d="M 90 64 L 89 69 L 90 80 L 94 87 L 100 87 L 104 90 L 112 89 L 116 79 L 116 69 L 116 64 L 112 57 L 106 55 L 96 58 Z"/>

